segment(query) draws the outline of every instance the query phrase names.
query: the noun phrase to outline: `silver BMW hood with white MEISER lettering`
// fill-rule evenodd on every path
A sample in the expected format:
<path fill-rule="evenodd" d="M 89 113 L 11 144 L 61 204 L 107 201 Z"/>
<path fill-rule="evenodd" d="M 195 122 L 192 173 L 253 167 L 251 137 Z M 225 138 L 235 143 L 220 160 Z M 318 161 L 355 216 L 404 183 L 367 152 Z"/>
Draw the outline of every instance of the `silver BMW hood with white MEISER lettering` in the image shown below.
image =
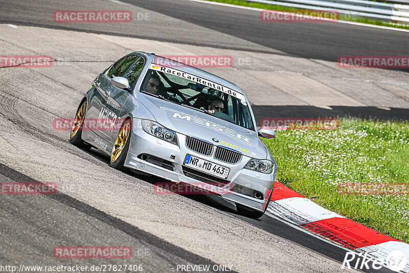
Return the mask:
<path fill-rule="evenodd" d="M 267 149 L 256 131 L 143 93 L 138 93 L 137 99 L 145 105 L 158 123 L 171 130 L 214 145 L 228 147 L 250 157 L 267 158 Z"/>

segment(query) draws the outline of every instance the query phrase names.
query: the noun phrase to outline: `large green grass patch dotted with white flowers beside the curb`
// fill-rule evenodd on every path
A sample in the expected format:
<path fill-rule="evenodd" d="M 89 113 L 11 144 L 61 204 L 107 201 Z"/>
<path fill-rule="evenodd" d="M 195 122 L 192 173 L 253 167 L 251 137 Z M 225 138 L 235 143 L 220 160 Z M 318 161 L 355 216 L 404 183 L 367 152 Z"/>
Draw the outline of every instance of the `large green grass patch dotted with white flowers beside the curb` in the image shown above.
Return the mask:
<path fill-rule="evenodd" d="M 342 195 L 339 183 L 409 183 L 409 123 L 341 119 L 337 130 L 264 140 L 277 180 L 324 208 L 409 243 L 409 195 Z"/>

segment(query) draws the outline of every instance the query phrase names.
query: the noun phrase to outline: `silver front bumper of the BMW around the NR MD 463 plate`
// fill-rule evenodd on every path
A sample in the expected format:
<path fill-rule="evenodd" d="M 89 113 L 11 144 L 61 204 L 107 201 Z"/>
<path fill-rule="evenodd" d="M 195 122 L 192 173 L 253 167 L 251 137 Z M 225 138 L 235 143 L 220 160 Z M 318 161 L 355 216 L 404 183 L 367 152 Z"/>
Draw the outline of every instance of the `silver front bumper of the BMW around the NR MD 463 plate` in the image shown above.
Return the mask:
<path fill-rule="evenodd" d="M 243 169 L 250 157 L 243 155 L 237 164 L 223 163 L 213 157 L 206 156 L 190 150 L 186 147 L 186 135 L 176 133 L 178 145 L 158 139 L 145 132 L 141 127 L 140 119 L 133 119 L 133 130 L 131 131 L 130 145 L 124 166 L 137 171 L 163 177 L 175 183 L 184 183 L 193 187 L 204 189 L 222 198 L 242 204 L 248 208 L 263 212 L 275 180 L 275 170 L 271 174 L 264 174 L 253 170 Z M 195 136 L 192 136 L 195 137 Z M 196 136 L 197 137 L 197 136 Z M 143 160 L 141 155 L 152 155 L 166 161 L 166 167 L 158 166 L 147 160 Z M 207 183 L 186 176 L 183 169 L 183 162 L 186 154 L 200 157 L 203 160 L 230 168 L 229 176 L 226 180 L 230 183 L 221 187 L 206 187 Z M 172 167 L 169 167 L 171 165 Z M 165 165 L 163 165 L 165 166 Z M 186 169 L 185 169 L 186 171 Z M 162 183 L 164 181 L 157 181 Z M 217 184 L 217 183 L 216 183 Z M 241 189 L 254 190 L 263 194 L 262 199 L 236 192 L 237 187 Z"/>

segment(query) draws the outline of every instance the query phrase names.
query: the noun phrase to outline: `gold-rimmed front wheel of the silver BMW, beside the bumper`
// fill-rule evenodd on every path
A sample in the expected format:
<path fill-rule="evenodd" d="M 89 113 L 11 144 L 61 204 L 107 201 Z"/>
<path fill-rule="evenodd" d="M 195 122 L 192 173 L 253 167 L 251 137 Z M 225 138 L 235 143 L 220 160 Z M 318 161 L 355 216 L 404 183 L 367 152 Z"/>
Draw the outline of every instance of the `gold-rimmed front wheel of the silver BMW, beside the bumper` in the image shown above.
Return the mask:
<path fill-rule="evenodd" d="M 125 169 L 124 163 L 126 155 L 128 154 L 131 128 L 131 121 L 127 119 L 118 132 L 117 139 L 113 143 L 110 156 L 110 165 L 112 168 L 118 170 Z"/>

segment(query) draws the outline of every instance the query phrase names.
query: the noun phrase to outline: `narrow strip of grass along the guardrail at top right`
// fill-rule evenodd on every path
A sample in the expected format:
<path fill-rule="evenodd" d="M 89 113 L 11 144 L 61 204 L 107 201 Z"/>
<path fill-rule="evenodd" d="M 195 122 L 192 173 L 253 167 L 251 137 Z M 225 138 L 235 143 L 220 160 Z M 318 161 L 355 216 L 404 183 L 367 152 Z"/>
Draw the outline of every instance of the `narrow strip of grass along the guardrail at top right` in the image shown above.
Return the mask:
<path fill-rule="evenodd" d="M 244 1 L 244 0 L 208 0 L 208 1 L 220 2 L 220 3 L 225 3 L 225 4 L 231 4 L 231 5 L 238 5 L 238 6 L 245 6 L 245 7 L 252 7 L 252 8 L 258 8 L 258 9 L 265 9 L 265 10 L 279 10 L 279 11 L 296 11 L 296 10 L 302 11 L 302 10 L 305 10 L 305 9 L 284 7 L 284 6 L 279 6 L 279 5 L 271 5 L 271 4 L 264 4 L 264 3 L 257 3 L 257 2 L 248 2 L 248 1 Z M 343 14 L 340 14 L 339 15 L 339 20 L 346 20 L 346 21 L 351 21 L 351 22 L 360 22 L 360 23 L 364 23 L 364 24 L 391 27 L 391 28 L 409 29 L 409 25 L 400 24 L 400 23 L 389 23 L 389 22 L 385 22 L 385 21 L 378 21 L 378 20 L 368 19 L 368 18 L 359 17 L 359 16 L 351 17 L 351 16 L 345 16 Z M 271 22 L 270 24 L 274 24 L 274 23 Z"/>

